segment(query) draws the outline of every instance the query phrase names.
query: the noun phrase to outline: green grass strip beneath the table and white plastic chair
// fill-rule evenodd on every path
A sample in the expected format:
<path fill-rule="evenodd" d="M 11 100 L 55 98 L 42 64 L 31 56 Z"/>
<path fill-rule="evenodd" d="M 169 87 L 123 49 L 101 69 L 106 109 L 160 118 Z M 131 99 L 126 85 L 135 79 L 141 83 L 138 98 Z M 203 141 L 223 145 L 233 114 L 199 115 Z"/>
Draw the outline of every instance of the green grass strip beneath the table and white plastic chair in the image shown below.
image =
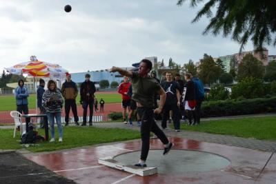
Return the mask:
<path fill-rule="evenodd" d="M 43 130 L 39 130 L 39 134 L 44 135 L 43 132 Z M 17 132 L 16 135 L 17 136 L 15 138 L 12 138 L 13 130 L 0 129 L 0 149 L 21 149 L 23 146 L 19 144 L 19 132 Z M 55 135 L 58 138 L 57 129 L 55 130 Z M 46 152 L 71 147 L 80 147 L 84 145 L 95 145 L 99 143 L 139 139 L 139 137 L 140 133 L 136 130 L 99 127 L 63 127 L 62 143 L 59 143 L 58 139 L 56 138 L 57 140 L 54 143 L 44 141 L 43 143 L 37 143 L 37 146 L 28 147 L 27 150 L 30 150 L 31 152 Z"/>

